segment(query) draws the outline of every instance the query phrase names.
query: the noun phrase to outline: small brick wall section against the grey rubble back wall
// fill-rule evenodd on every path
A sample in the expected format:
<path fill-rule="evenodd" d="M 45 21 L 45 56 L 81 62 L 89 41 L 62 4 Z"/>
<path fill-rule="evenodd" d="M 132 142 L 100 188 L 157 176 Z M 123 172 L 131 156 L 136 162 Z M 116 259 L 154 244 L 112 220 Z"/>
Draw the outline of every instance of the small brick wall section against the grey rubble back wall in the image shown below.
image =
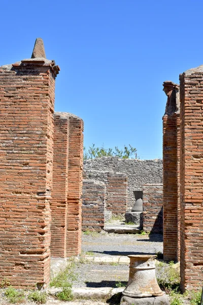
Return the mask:
<path fill-rule="evenodd" d="M 107 210 L 114 215 L 125 215 L 127 210 L 127 175 L 108 172 L 106 189 Z"/>

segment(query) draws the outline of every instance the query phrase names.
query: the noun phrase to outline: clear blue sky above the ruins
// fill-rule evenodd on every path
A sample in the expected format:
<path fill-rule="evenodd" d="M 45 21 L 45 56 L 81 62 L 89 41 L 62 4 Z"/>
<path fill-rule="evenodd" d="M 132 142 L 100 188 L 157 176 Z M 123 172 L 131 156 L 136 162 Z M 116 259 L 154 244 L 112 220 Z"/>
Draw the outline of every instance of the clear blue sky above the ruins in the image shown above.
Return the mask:
<path fill-rule="evenodd" d="M 60 66 L 55 110 L 85 123 L 85 146 L 162 156 L 165 80 L 203 64 L 202 0 L 1 0 L 0 65 L 37 37 Z"/>

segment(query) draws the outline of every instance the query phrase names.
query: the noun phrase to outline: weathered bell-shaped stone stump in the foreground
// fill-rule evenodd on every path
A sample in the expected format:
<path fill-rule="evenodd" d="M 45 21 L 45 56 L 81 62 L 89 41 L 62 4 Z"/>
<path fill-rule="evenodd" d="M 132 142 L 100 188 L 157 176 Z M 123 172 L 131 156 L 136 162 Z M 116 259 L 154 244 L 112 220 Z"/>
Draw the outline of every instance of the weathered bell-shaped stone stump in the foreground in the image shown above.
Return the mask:
<path fill-rule="evenodd" d="M 150 297 L 163 294 L 155 274 L 156 255 L 128 255 L 130 258 L 129 280 L 123 295 L 129 297 Z"/>

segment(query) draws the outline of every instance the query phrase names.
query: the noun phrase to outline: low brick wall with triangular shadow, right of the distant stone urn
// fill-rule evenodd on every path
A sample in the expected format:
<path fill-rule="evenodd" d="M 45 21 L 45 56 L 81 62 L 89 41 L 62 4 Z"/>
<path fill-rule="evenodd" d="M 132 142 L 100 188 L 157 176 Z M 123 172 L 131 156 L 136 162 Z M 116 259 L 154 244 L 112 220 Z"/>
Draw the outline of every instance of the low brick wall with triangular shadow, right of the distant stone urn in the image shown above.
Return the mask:
<path fill-rule="evenodd" d="M 163 232 L 163 185 L 143 186 L 143 230 L 151 233 Z"/>

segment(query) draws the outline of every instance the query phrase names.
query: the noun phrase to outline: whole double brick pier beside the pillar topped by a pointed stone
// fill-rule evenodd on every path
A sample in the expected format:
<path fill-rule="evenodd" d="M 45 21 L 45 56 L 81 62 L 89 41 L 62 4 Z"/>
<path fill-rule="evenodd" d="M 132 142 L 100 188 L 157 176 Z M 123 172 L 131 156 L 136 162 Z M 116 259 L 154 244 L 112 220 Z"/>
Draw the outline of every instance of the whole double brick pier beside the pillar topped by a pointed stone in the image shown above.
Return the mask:
<path fill-rule="evenodd" d="M 51 255 L 69 257 L 81 251 L 83 120 L 54 112 Z"/>

